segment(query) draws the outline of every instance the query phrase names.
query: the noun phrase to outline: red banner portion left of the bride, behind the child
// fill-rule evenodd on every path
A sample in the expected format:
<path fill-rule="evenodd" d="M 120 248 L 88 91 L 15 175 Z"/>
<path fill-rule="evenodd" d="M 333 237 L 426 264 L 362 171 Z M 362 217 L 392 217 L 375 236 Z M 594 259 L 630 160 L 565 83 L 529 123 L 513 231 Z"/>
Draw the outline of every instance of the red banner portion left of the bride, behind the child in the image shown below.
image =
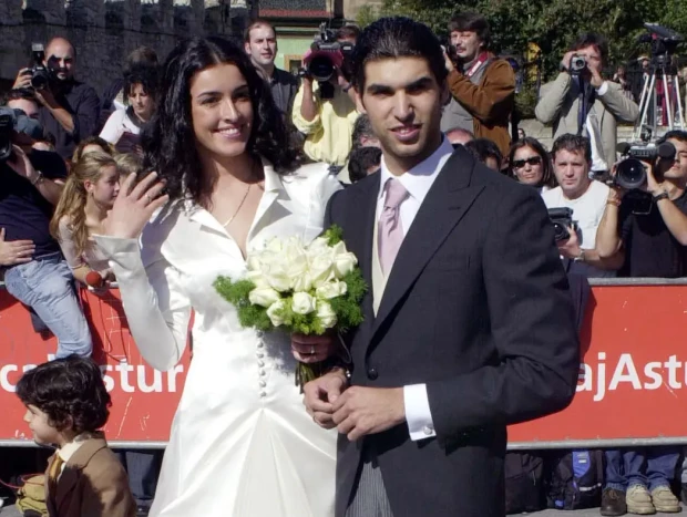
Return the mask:
<path fill-rule="evenodd" d="M 160 372 L 145 363 L 126 327 L 116 289 L 81 292 L 91 325 L 93 359 L 101 364 L 112 397 L 105 434 L 110 442 L 166 442 L 184 389 L 188 351 L 180 364 Z M 22 372 L 54 358 L 57 340 L 34 332 L 29 311 L 0 288 L 0 442 L 31 441 L 25 409 L 14 394 Z"/>

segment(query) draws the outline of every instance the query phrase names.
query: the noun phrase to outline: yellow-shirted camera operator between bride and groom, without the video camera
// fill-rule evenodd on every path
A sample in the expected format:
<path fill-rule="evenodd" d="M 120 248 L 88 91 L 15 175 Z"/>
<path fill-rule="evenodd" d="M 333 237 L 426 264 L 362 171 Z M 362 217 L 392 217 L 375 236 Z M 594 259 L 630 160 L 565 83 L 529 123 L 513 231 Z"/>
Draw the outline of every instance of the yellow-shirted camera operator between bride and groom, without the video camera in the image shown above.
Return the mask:
<path fill-rule="evenodd" d="M 337 32 L 336 41 L 355 44 L 358 32 L 357 27 L 344 27 Z M 332 55 L 332 61 L 342 63 L 340 51 L 332 52 L 337 53 Z M 346 164 L 351 151 L 353 124 L 358 118 L 355 92 L 349 79 L 337 66 L 331 77 L 322 84 L 314 82 L 312 76 L 306 73 L 291 111 L 294 125 L 306 135 L 305 154 L 314 162 L 328 163 L 335 174 Z"/>

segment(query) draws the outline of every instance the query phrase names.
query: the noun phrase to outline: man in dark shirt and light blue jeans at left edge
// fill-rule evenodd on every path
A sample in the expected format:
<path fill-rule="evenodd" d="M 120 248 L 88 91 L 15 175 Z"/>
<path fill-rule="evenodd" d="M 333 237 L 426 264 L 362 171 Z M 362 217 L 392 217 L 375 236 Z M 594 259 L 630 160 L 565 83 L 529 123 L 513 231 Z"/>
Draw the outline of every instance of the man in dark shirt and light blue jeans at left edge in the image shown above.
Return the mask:
<path fill-rule="evenodd" d="M 0 107 L 0 272 L 4 288 L 32 308 L 58 339 L 57 356 L 91 354 L 91 334 L 72 273 L 49 225 L 66 177 L 55 153 L 32 149 L 43 130 L 21 110 Z"/>

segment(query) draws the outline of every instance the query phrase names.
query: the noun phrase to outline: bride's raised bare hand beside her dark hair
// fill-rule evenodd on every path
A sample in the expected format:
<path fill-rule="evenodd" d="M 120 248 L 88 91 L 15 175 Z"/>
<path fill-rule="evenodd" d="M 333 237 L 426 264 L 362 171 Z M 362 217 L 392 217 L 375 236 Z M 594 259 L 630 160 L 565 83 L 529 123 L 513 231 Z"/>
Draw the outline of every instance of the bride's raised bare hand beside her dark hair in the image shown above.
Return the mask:
<path fill-rule="evenodd" d="M 130 174 L 121 185 L 112 210 L 103 226 L 105 235 L 123 239 L 137 239 L 153 213 L 170 200 L 162 194 L 164 182 L 157 180 L 157 173 L 150 173 L 134 187 L 135 174 Z"/>

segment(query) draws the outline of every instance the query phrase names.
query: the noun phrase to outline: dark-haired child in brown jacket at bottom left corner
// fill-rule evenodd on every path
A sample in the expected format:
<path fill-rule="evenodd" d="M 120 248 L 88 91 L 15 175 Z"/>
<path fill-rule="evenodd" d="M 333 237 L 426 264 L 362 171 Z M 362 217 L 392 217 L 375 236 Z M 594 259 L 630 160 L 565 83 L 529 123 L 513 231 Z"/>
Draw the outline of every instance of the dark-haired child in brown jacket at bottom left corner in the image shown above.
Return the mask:
<path fill-rule="evenodd" d="M 41 364 L 23 374 L 17 395 L 33 440 L 58 447 L 45 472 L 49 516 L 135 517 L 126 473 L 99 431 L 111 402 L 98 365 L 78 355 Z"/>

